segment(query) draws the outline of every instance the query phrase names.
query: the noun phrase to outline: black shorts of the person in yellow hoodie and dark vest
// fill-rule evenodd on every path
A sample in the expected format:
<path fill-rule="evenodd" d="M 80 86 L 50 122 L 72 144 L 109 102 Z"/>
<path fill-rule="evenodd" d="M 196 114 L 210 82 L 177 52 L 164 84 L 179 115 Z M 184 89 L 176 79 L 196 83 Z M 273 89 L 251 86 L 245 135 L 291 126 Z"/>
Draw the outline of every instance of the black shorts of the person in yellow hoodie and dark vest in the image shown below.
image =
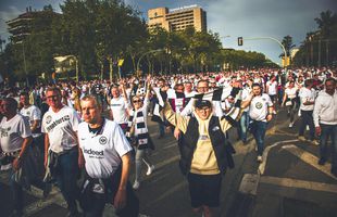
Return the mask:
<path fill-rule="evenodd" d="M 202 205 L 217 207 L 220 205 L 220 192 L 222 175 L 188 174 L 189 195 L 191 206 L 198 208 Z"/>

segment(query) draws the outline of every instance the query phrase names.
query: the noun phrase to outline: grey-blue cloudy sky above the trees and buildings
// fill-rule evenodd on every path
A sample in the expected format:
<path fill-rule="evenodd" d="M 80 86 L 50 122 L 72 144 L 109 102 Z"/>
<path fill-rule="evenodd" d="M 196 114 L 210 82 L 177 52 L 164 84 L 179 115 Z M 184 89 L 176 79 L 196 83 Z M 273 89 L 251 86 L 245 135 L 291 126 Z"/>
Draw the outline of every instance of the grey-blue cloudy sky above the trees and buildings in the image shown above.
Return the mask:
<path fill-rule="evenodd" d="M 16 17 L 26 7 L 41 10 L 51 4 L 61 12 L 63 0 L 0 0 L 0 36 L 9 37 L 5 21 Z M 317 29 L 314 21 L 322 11 L 337 12 L 337 0 L 125 0 L 142 12 L 158 7 L 168 9 L 198 4 L 207 11 L 208 30 L 219 33 L 225 48 L 258 51 L 275 63 L 280 63 L 280 47 L 272 40 L 245 40 L 252 37 L 273 37 L 282 40 L 290 35 L 298 47 L 307 33 Z M 230 37 L 226 37 L 230 36 Z M 237 37 L 244 37 L 244 46 L 237 46 Z"/>

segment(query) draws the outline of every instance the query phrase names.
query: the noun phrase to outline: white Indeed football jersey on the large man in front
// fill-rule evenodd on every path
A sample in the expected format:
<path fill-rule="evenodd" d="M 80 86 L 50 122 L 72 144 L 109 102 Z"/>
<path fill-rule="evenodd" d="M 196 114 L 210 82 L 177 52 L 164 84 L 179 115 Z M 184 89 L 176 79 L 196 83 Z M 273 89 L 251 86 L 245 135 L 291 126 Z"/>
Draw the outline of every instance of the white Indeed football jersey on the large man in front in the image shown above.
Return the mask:
<path fill-rule="evenodd" d="M 121 157 L 133 149 L 121 127 L 109 119 L 104 120 L 101 132 L 97 135 L 89 131 L 87 123 L 80 123 L 78 141 L 91 178 L 112 176 L 121 164 Z"/>

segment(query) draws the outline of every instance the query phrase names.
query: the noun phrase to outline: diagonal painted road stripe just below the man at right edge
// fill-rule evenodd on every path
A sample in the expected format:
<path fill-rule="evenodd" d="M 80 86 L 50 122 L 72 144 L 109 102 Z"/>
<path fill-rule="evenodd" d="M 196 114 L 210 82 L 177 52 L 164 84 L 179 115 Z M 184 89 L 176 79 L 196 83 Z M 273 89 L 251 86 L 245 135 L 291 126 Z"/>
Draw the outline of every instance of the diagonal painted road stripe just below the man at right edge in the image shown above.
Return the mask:
<path fill-rule="evenodd" d="M 315 155 L 313 155 L 309 152 L 305 152 L 304 150 L 296 146 L 295 144 L 285 145 L 282 149 L 288 151 L 290 154 L 299 157 L 301 161 L 305 162 L 310 166 L 319 169 L 320 171 L 324 173 L 325 175 L 337 180 L 337 178 L 334 175 L 332 175 L 332 173 L 330 173 L 332 165 L 329 163 L 325 163 L 324 166 L 319 165 L 317 164 L 319 157 L 316 157 Z"/>

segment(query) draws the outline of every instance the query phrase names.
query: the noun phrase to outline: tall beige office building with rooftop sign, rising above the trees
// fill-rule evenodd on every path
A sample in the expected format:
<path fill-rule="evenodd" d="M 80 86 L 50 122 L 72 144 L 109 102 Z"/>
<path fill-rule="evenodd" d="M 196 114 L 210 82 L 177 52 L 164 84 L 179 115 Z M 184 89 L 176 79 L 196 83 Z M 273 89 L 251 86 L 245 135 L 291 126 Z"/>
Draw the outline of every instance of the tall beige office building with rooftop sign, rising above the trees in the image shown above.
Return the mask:
<path fill-rule="evenodd" d="M 198 5 L 178 9 L 157 8 L 148 11 L 149 28 L 162 27 L 167 31 L 195 27 L 197 31 L 207 31 L 207 13 Z"/>

